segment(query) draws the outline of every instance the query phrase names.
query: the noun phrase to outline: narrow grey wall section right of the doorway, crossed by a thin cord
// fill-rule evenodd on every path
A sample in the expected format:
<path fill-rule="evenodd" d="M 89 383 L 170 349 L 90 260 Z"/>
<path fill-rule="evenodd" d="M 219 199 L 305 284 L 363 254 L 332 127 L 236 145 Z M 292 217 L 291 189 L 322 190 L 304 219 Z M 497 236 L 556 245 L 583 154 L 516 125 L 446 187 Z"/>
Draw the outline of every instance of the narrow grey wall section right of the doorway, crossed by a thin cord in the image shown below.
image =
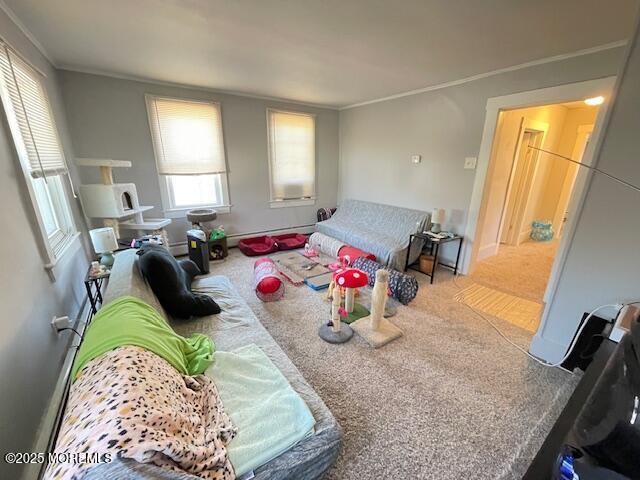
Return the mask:
<path fill-rule="evenodd" d="M 596 167 L 640 186 L 640 34 L 619 77 Z M 581 175 L 585 175 L 584 170 Z M 606 304 L 640 300 L 640 192 L 594 174 L 566 262 L 531 352 L 557 361 L 584 312 Z M 603 312 L 606 313 L 606 312 Z"/>

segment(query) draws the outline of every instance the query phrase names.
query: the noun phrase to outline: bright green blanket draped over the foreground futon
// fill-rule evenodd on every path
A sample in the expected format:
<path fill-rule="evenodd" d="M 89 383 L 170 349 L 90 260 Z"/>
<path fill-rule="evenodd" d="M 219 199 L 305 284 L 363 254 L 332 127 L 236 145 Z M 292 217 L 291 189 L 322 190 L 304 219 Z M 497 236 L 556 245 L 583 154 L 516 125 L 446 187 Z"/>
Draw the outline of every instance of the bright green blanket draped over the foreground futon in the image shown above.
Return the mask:
<path fill-rule="evenodd" d="M 94 358 L 123 345 L 145 348 L 164 358 L 184 375 L 197 375 L 213 363 L 213 341 L 201 333 L 184 338 L 150 305 L 120 297 L 98 311 L 85 332 L 71 378 Z"/>

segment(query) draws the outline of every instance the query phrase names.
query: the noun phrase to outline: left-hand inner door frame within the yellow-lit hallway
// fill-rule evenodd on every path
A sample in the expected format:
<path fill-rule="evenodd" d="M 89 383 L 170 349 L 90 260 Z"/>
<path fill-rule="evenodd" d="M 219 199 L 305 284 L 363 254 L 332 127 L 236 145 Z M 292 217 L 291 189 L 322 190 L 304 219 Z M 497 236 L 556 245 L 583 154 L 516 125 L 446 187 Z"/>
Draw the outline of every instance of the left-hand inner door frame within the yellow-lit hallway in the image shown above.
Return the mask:
<path fill-rule="evenodd" d="M 520 161 L 520 153 L 522 150 L 522 141 L 524 139 L 524 135 L 526 133 L 535 133 L 537 134 L 537 147 L 544 148 L 545 141 L 547 137 L 547 132 L 549 131 L 549 124 L 546 122 L 541 122 L 538 120 L 533 120 L 527 117 L 522 117 L 520 121 L 520 130 L 518 132 L 518 140 L 516 142 L 516 148 L 513 154 L 513 161 L 511 163 L 511 172 L 509 174 L 509 181 L 507 184 L 507 191 L 504 196 L 504 202 L 502 204 L 502 213 L 500 218 L 500 227 L 498 228 L 498 234 L 496 236 L 497 248 L 500 248 L 500 244 L 502 243 L 502 236 L 504 233 L 504 228 L 508 221 L 508 211 L 509 211 L 509 203 L 511 201 L 511 194 L 514 188 L 514 182 L 516 181 L 516 171 L 518 168 L 518 162 Z M 538 141 L 539 140 L 539 141 Z M 534 152 L 533 158 L 533 171 L 527 175 L 526 178 L 527 184 L 525 186 L 525 190 L 527 191 L 526 197 L 528 198 L 531 193 L 531 188 L 535 184 L 536 177 L 538 175 L 538 152 Z M 520 194 L 521 195 L 521 194 Z M 521 242 L 521 234 L 522 234 L 522 223 L 524 221 L 524 216 L 527 211 L 527 202 L 521 205 L 518 208 L 518 211 L 515 212 L 516 216 L 516 229 L 515 233 L 512 233 L 509 236 L 509 241 L 506 243 L 509 245 L 519 245 Z M 513 238 L 515 236 L 515 238 Z"/>

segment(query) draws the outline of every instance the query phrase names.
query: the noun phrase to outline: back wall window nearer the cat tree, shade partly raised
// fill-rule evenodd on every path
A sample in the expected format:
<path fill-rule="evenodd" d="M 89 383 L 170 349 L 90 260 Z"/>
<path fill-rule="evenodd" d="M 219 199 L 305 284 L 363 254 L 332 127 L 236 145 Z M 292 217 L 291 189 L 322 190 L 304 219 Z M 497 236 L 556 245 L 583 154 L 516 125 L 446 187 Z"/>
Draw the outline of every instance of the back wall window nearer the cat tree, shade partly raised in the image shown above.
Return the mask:
<path fill-rule="evenodd" d="M 220 105 L 152 95 L 146 99 L 165 211 L 228 209 Z"/>

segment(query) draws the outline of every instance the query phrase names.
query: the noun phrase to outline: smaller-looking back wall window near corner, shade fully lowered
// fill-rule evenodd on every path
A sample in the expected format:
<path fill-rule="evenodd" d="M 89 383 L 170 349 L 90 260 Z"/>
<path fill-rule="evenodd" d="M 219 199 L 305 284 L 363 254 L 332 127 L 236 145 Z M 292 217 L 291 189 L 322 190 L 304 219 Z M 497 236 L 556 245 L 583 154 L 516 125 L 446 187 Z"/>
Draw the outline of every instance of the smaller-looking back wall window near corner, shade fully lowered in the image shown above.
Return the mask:
<path fill-rule="evenodd" d="M 307 113 L 267 110 L 272 207 L 315 202 L 315 123 Z"/>

